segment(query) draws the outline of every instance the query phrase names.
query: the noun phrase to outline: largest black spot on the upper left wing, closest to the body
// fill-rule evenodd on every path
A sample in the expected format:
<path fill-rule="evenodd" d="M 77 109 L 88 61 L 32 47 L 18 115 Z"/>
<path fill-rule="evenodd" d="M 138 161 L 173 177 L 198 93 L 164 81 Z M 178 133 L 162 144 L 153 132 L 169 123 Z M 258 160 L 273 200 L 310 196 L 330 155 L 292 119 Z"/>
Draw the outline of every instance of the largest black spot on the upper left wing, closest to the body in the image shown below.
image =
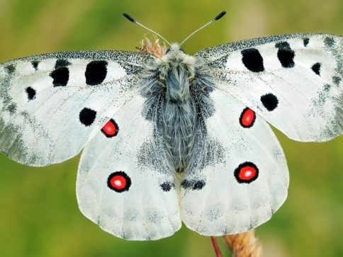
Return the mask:
<path fill-rule="evenodd" d="M 92 61 L 87 64 L 86 72 L 86 84 L 90 86 L 99 85 L 103 82 L 107 75 L 106 61 Z"/>

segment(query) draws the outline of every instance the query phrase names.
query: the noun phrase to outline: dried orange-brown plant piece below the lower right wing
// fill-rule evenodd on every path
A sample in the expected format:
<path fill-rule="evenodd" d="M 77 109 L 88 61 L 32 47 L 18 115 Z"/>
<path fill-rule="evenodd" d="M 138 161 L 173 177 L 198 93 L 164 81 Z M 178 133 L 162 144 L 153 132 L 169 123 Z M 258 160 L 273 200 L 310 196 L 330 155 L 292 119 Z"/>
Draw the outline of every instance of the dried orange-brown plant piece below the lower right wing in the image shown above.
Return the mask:
<path fill-rule="evenodd" d="M 254 229 L 242 233 L 223 236 L 232 257 L 262 257 L 262 246 L 254 236 Z"/>

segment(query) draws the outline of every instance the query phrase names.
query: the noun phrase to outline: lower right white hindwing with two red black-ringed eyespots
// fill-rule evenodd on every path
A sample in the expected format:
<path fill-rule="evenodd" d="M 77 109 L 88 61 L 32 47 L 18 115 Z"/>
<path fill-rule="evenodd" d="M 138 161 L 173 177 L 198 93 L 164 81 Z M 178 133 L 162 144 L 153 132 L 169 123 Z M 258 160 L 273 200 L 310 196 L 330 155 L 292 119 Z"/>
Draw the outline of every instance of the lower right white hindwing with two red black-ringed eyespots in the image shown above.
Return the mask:
<path fill-rule="evenodd" d="M 205 120 L 206 142 L 181 179 L 181 218 L 207 236 L 246 232 L 286 200 L 286 159 L 259 115 L 218 89 L 210 100 L 215 111 Z"/>

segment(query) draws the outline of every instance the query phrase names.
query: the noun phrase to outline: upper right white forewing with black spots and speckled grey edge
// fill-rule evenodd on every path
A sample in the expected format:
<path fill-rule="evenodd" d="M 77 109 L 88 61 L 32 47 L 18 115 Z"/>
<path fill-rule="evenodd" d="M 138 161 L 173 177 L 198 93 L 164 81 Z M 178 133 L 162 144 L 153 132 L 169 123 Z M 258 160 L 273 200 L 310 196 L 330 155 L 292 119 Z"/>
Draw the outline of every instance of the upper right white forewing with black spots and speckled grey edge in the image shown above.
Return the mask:
<path fill-rule="evenodd" d="M 201 50 L 218 85 L 283 133 L 326 141 L 343 132 L 343 38 L 279 35 Z"/>

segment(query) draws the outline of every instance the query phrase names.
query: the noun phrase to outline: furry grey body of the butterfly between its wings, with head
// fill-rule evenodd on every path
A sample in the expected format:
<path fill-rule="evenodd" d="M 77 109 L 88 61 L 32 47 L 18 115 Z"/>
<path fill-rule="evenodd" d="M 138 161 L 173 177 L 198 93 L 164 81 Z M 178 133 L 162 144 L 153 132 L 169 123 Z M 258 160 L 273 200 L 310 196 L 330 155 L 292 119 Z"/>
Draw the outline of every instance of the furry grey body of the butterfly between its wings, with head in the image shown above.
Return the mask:
<path fill-rule="evenodd" d="M 208 106 L 203 105 L 209 103 L 207 96 L 214 87 L 207 69 L 201 57 L 185 55 L 174 44 L 164 57 L 148 61 L 142 79 L 147 109 L 156 110 L 150 117 L 156 124 L 155 138 L 163 141 L 169 166 L 177 173 L 198 166 L 193 164 L 200 157 L 195 149 L 203 148 L 199 145 L 206 137 L 203 118 L 208 116 Z"/>

